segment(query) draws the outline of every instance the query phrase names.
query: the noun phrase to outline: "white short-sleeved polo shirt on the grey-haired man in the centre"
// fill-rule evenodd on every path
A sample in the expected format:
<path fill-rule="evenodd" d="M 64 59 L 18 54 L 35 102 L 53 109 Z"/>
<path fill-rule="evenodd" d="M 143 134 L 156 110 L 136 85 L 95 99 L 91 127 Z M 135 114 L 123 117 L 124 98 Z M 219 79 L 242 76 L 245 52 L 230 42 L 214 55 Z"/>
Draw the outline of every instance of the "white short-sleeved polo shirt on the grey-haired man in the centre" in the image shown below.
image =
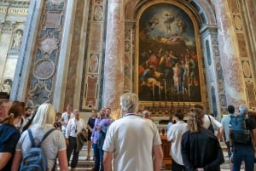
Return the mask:
<path fill-rule="evenodd" d="M 113 152 L 115 171 L 153 171 L 154 145 L 161 145 L 156 125 L 149 119 L 131 115 L 109 126 L 103 151 Z"/>

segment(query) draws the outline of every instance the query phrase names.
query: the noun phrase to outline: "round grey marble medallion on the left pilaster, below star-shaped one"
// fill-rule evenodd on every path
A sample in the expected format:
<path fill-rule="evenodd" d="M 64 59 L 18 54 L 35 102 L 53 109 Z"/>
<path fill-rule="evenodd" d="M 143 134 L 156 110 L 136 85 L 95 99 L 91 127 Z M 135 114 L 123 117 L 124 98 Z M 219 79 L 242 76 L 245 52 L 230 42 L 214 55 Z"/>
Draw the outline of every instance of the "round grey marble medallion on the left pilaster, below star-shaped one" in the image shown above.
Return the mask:
<path fill-rule="evenodd" d="M 49 59 L 38 60 L 33 68 L 34 77 L 40 80 L 49 79 L 55 72 L 55 63 Z"/>

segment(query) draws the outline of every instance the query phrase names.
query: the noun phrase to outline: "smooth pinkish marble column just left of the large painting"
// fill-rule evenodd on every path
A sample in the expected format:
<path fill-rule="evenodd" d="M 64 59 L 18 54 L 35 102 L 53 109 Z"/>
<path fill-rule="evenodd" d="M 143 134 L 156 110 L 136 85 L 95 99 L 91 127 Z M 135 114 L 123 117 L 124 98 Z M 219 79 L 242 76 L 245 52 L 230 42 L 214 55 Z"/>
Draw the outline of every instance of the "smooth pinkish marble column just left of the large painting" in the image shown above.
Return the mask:
<path fill-rule="evenodd" d="M 102 106 L 112 108 L 117 115 L 119 97 L 124 93 L 124 16 L 123 0 L 109 0 Z"/>

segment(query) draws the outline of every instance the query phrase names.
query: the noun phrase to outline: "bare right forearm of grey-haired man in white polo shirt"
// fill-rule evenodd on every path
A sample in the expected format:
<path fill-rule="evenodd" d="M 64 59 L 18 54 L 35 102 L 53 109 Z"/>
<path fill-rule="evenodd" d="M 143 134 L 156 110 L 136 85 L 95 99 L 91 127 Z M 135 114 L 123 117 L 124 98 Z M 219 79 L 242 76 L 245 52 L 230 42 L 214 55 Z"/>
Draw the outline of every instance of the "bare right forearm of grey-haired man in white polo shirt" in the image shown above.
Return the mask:
<path fill-rule="evenodd" d="M 154 145 L 154 171 L 160 171 L 163 163 L 164 153 L 161 145 Z M 104 162 L 105 164 L 105 162 Z"/>

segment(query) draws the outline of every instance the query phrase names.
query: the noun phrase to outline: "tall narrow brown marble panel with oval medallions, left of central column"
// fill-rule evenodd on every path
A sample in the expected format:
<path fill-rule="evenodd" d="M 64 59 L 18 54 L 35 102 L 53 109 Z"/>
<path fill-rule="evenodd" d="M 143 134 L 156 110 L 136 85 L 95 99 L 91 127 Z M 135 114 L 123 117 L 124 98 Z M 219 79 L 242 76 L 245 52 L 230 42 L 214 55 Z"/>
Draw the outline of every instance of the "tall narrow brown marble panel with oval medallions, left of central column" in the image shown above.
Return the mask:
<path fill-rule="evenodd" d="M 102 105 L 105 48 L 105 0 L 93 0 L 90 3 L 90 18 L 87 28 L 87 43 L 84 47 L 84 76 L 82 78 L 83 96 L 80 97 L 80 105 L 83 111 L 90 111 L 91 107 L 98 109 Z M 93 88 L 94 86 L 94 88 Z M 89 95 L 88 95 L 89 94 Z"/>

